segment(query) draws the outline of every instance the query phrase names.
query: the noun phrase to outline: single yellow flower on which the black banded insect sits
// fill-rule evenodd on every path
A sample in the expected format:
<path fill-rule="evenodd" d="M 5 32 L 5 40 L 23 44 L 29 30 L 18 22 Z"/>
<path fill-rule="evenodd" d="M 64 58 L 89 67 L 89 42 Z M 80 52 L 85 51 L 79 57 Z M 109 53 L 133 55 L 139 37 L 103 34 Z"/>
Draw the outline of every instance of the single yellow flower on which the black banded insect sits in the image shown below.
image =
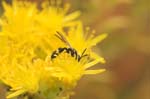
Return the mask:
<path fill-rule="evenodd" d="M 73 48 L 77 51 L 78 55 L 81 57 L 83 51 L 85 51 L 85 55 L 89 57 L 83 57 L 81 61 L 77 61 L 70 54 L 66 53 L 65 50 L 63 53 L 57 52 L 58 56 L 52 61 L 50 56 L 48 56 L 47 61 L 49 62 L 48 70 L 52 71 L 52 75 L 54 77 L 59 78 L 61 81 L 67 84 L 74 85 L 77 81 L 85 74 L 97 74 L 104 72 L 105 69 L 99 70 L 89 70 L 90 67 L 94 66 L 97 63 L 105 63 L 103 57 L 97 55 L 91 49 L 97 43 L 101 42 L 103 39 L 107 37 L 107 34 L 101 34 L 98 36 L 94 36 L 94 33 L 86 33 L 83 30 L 82 23 L 78 22 L 76 27 L 72 27 L 67 34 L 62 33 L 64 38 L 67 40 L 67 44 L 64 42 L 61 37 L 56 37 L 58 39 L 57 42 L 62 42 L 63 44 L 55 44 L 55 50 L 57 52 L 58 48 Z M 54 52 L 53 52 L 54 53 Z M 52 54 L 53 54 L 52 53 Z M 52 55 L 51 54 L 51 55 Z"/>

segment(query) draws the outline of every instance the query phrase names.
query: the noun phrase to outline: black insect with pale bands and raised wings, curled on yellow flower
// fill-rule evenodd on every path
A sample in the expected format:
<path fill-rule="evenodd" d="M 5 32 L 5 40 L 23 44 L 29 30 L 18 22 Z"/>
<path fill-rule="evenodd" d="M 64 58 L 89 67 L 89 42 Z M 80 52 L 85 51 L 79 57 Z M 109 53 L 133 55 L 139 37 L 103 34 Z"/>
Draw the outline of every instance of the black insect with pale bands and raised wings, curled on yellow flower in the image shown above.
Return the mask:
<path fill-rule="evenodd" d="M 68 54 L 70 54 L 72 57 L 75 58 L 75 60 L 77 60 L 78 62 L 80 62 L 80 60 L 85 57 L 88 56 L 87 54 L 84 55 L 86 49 L 84 49 L 84 51 L 82 52 L 81 55 L 78 54 L 78 52 L 71 47 L 70 43 L 67 41 L 67 39 L 59 32 L 57 32 L 57 34 L 55 34 L 55 36 L 57 38 L 59 38 L 62 42 L 64 42 L 65 44 L 67 44 L 69 47 L 63 47 L 63 48 L 58 48 L 57 50 L 55 50 L 52 54 L 51 54 L 51 60 L 55 59 L 58 55 L 60 55 L 62 52 L 66 52 Z"/>

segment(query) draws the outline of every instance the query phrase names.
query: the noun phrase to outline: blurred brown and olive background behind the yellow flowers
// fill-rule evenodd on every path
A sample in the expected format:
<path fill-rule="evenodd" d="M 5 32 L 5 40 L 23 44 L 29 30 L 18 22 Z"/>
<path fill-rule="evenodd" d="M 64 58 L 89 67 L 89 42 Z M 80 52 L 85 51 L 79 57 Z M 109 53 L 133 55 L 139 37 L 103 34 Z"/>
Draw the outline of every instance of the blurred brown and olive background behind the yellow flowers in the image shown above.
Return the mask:
<path fill-rule="evenodd" d="M 84 76 L 71 99 L 150 99 L 149 0 L 62 1 L 71 4 L 70 12 L 82 12 L 85 27 L 109 35 L 93 49 L 107 61 L 94 69 L 107 71 Z"/>

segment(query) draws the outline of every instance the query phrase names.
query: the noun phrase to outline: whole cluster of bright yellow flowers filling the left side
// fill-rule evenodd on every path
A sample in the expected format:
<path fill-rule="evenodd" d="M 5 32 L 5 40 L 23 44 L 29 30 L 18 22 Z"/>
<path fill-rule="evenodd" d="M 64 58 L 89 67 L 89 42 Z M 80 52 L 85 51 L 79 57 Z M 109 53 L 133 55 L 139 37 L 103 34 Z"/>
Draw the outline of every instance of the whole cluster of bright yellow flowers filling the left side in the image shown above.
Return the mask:
<path fill-rule="evenodd" d="M 52 1 L 40 8 L 29 1 L 3 2 L 0 82 L 9 88 L 6 98 L 67 99 L 83 75 L 105 71 L 88 68 L 105 63 L 91 48 L 107 34 L 84 31 L 79 11 L 67 14 L 68 4 Z"/>

